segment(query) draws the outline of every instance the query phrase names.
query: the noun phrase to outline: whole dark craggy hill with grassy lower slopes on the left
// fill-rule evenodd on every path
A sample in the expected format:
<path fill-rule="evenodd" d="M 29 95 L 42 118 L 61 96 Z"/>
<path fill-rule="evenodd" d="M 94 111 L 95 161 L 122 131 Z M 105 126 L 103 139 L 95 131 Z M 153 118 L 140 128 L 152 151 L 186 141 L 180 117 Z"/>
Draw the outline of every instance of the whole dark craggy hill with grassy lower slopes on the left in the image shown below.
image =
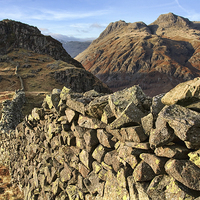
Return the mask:
<path fill-rule="evenodd" d="M 52 89 L 63 86 L 76 92 L 111 92 L 74 60 L 59 41 L 42 35 L 37 27 L 13 20 L 0 21 L 0 84 L 0 103 L 23 88 L 31 107 L 41 103 Z"/>

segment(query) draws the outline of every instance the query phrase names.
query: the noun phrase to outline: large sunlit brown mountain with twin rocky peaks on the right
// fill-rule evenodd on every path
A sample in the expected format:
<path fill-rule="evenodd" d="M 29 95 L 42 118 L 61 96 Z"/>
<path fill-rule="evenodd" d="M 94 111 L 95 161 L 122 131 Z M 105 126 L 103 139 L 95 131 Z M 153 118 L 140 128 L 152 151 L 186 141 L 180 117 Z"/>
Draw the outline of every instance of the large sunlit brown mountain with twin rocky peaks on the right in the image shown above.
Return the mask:
<path fill-rule="evenodd" d="M 173 13 L 150 25 L 112 22 L 76 60 L 113 91 L 139 84 L 154 96 L 200 76 L 200 22 Z"/>

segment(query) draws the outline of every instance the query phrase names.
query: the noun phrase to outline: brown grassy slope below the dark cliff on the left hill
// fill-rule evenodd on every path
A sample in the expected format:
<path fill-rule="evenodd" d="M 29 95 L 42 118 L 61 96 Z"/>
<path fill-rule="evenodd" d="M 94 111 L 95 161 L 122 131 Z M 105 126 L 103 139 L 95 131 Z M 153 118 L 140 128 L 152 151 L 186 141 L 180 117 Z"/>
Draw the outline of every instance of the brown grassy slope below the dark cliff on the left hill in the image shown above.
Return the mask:
<path fill-rule="evenodd" d="M 12 99 L 15 90 L 21 88 L 20 80 L 15 75 L 16 66 L 22 77 L 27 97 L 24 115 L 33 107 L 41 105 L 46 94 L 53 88 L 62 89 L 63 85 L 52 78 L 55 71 L 73 67 L 63 61 L 56 61 L 48 55 L 41 55 L 24 49 L 15 49 L 0 56 L 0 108 L 5 99 Z M 28 66 L 28 67 L 23 67 Z"/>

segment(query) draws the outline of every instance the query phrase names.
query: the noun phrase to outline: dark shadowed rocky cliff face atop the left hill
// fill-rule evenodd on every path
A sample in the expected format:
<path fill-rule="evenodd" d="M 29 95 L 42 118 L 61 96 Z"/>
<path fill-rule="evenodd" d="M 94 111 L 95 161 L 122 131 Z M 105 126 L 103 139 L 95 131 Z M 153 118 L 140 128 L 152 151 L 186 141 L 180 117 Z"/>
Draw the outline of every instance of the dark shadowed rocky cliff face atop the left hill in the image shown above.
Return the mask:
<path fill-rule="evenodd" d="M 60 59 L 82 68 L 82 65 L 71 58 L 59 41 L 42 35 L 38 28 L 12 20 L 0 21 L 0 54 L 7 54 L 13 48 L 48 54 L 56 60 Z"/>

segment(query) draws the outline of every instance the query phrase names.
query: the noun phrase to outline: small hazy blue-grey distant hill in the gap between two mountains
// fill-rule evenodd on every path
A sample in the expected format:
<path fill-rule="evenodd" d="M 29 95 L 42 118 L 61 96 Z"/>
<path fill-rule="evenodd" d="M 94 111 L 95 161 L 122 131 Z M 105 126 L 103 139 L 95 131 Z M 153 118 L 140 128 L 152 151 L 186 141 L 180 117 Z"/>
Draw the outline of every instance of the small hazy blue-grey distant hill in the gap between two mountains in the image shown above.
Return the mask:
<path fill-rule="evenodd" d="M 63 47 L 72 58 L 75 58 L 79 53 L 87 49 L 90 44 L 91 44 L 90 41 L 87 42 L 69 41 L 69 42 L 63 42 Z"/>

